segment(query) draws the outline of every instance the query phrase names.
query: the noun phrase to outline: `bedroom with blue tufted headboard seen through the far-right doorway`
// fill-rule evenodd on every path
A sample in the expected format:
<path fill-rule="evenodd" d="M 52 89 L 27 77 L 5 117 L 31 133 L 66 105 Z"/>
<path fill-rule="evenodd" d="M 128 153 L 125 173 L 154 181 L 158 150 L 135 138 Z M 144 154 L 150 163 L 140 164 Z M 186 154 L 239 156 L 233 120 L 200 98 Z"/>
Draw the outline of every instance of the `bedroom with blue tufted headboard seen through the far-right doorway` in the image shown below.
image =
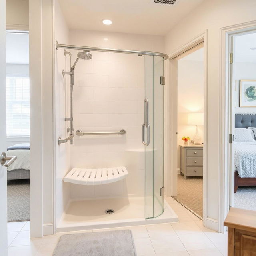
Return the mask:
<path fill-rule="evenodd" d="M 230 42 L 230 206 L 256 211 L 256 31 Z"/>

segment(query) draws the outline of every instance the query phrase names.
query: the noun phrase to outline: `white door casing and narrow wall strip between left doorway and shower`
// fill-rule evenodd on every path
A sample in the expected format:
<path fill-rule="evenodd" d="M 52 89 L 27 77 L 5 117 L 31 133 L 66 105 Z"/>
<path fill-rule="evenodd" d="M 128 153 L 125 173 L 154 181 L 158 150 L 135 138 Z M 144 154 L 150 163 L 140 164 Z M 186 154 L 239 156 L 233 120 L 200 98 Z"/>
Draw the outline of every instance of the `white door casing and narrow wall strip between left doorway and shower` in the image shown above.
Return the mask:
<path fill-rule="evenodd" d="M 54 233 L 52 0 L 29 0 L 30 237 Z"/>

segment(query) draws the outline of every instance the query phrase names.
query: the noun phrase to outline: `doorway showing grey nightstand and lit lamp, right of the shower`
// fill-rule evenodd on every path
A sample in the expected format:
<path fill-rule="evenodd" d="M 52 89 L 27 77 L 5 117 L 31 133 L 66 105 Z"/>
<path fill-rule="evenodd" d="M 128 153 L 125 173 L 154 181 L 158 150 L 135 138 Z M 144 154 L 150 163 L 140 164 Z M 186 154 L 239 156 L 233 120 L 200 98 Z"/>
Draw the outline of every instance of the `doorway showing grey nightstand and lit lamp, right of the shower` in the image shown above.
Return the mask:
<path fill-rule="evenodd" d="M 204 45 L 172 59 L 173 198 L 202 219 L 204 158 Z M 176 98 L 176 100 L 175 100 Z M 174 134 L 174 133 L 173 133 Z"/>

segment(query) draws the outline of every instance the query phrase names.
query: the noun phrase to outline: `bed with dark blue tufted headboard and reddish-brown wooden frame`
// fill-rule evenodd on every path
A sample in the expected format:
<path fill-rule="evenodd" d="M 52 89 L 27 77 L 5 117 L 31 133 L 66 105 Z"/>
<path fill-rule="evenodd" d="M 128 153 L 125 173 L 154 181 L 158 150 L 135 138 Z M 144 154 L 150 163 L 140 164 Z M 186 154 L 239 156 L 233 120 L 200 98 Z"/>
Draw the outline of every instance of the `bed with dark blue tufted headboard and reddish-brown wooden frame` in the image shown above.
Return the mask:
<path fill-rule="evenodd" d="M 256 114 L 235 114 L 235 128 L 248 127 L 256 128 Z M 256 130 L 254 130 L 254 140 L 255 132 Z M 234 152 L 236 193 L 238 186 L 256 186 L 256 140 L 254 142 L 235 140 Z"/>

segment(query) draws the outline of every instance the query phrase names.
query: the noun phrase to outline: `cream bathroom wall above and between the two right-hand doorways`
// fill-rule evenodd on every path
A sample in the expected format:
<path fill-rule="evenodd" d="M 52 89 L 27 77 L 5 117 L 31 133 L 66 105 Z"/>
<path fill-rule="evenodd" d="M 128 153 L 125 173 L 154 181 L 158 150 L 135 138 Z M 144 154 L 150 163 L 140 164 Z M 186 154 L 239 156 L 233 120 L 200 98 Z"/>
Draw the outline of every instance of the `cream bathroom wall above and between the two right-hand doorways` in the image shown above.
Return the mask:
<path fill-rule="evenodd" d="M 207 226 L 217 229 L 220 149 L 220 28 L 255 20 L 255 0 L 205 0 L 166 35 L 165 52 L 174 50 L 208 31 L 208 180 Z"/>

